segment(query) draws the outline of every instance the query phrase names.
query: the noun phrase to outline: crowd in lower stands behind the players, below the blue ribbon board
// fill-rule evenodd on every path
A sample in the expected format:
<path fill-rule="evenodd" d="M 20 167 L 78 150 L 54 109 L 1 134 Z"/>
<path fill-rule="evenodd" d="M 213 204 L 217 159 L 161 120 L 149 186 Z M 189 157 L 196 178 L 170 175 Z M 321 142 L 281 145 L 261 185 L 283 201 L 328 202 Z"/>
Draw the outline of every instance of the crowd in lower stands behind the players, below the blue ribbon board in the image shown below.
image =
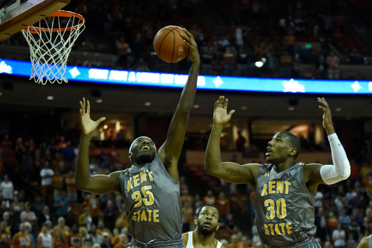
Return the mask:
<path fill-rule="evenodd" d="M 236 140 L 239 149 L 244 149 L 243 138 Z M 121 196 L 96 196 L 77 190 L 77 141 L 72 140 L 71 145 L 64 136 L 54 140 L 57 142 L 35 144 L 33 139 L 5 135 L 1 141 L 0 246 L 124 248 L 130 237 Z M 233 160 L 239 163 L 236 157 Z M 322 247 L 353 248 L 372 233 L 372 166 L 367 161 L 350 160 L 348 180 L 319 187 L 315 225 Z M 109 174 L 128 166 L 120 161 L 117 149 L 91 146 L 90 175 Z M 195 187 L 187 170 L 180 170 L 183 232 L 195 228 L 193 219 L 203 204 L 215 204 L 221 212 L 217 238 L 224 247 L 264 247 L 254 221 L 254 192 L 248 185 L 218 180 L 216 187 L 203 189 Z"/>

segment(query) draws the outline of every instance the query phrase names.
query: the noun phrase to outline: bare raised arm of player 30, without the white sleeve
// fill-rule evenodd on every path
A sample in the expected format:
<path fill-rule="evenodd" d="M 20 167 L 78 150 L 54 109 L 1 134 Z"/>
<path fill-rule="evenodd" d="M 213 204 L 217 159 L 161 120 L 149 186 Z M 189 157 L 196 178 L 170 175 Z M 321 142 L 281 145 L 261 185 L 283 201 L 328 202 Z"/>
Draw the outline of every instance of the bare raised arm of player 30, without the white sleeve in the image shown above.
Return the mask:
<path fill-rule="evenodd" d="M 209 137 L 206 153 L 204 170 L 206 173 L 219 177 L 230 183 L 251 183 L 257 171 L 261 167 L 260 164 L 240 165 L 233 162 L 221 161 L 221 150 L 219 142 L 223 125 L 230 119 L 235 110 L 227 113 L 228 99 L 220 96 L 214 104 L 213 128 Z"/>

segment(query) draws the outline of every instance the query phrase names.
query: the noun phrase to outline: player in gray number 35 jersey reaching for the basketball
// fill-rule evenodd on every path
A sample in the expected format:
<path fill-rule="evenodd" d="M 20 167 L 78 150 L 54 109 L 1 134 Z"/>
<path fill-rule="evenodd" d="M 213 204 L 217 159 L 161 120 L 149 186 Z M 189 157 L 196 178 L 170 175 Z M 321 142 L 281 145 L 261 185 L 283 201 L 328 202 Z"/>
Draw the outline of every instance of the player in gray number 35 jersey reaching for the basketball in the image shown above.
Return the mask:
<path fill-rule="evenodd" d="M 121 194 L 128 216 L 128 234 L 134 238 L 126 245 L 127 248 L 184 247 L 177 162 L 195 98 L 200 65 L 196 42 L 186 29 L 185 32 L 189 37 L 183 38 L 190 49 L 192 66 L 171 120 L 167 139 L 158 153 L 150 138 L 139 137 L 129 148 L 130 168 L 109 175 L 90 176 L 90 135 L 105 117 L 91 120 L 89 102 L 86 104 L 85 99 L 80 102 L 81 138 L 76 162 L 76 187 L 92 194 Z"/>

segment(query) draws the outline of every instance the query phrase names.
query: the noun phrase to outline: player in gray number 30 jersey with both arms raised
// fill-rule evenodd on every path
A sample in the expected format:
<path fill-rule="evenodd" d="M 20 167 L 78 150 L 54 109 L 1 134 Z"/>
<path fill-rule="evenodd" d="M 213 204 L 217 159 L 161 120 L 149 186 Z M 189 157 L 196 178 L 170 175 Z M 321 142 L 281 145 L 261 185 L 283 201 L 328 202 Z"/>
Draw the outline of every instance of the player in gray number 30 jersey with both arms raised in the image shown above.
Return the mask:
<path fill-rule="evenodd" d="M 222 127 L 235 112 L 227 113 L 227 103 L 228 99 L 221 96 L 214 106 L 205 171 L 230 183 L 250 184 L 255 192 L 253 207 L 260 239 L 268 247 L 320 247 L 313 238 L 317 187 L 319 184 L 337 183 L 350 175 L 350 164 L 334 132 L 328 103 L 324 98 L 318 98 L 334 165 L 295 163 L 301 144 L 289 132 L 276 133 L 269 141 L 268 164 L 222 162 L 219 148 Z"/>

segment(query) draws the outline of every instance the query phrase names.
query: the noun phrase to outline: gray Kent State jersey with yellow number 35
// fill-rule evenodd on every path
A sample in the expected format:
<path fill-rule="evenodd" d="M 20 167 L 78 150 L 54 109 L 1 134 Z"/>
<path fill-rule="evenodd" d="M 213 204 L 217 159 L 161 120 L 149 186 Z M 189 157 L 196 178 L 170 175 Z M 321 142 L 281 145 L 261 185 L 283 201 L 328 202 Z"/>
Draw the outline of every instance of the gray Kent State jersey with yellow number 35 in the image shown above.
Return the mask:
<path fill-rule="evenodd" d="M 179 182 L 171 178 L 158 155 L 142 168 L 132 165 L 122 171 L 120 186 L 130 236 L 143 243 L 182 238 Z"/>

